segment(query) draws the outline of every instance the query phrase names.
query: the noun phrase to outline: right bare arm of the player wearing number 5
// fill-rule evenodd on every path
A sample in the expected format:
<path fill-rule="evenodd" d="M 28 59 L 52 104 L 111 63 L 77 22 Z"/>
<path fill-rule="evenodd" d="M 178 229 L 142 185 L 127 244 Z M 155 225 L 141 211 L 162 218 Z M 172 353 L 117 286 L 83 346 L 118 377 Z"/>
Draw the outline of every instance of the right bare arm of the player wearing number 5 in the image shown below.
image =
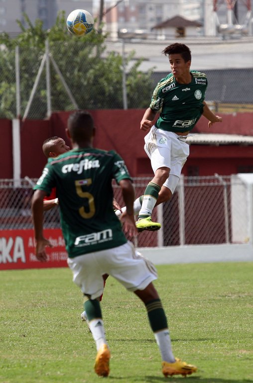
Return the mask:
<path fill-rule="evenodd" d="M 123 213 L 121 221 L 124 223 L 125 231 L 130 236 L 135 236 L 137 235 L 137 229 L 133 215 L 133 201 L 135 198 L 134 188 L 131 181 L 127 179 L 120 181 L 120 187 L 126 205 L 126 211 Z"/>

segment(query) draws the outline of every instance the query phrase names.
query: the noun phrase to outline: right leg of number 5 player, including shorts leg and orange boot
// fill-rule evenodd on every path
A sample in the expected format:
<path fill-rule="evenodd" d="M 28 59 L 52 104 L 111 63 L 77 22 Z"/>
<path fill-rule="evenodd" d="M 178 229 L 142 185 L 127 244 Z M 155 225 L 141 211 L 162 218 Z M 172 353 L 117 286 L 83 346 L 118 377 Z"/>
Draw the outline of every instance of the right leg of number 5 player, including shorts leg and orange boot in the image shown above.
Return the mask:
<path fill-rule="evenodd" d="M 173 356 L 167 319 L 152 283 L 157 278 L 154 265 L 137 252 L 130 242 L 111 249 L 108 259 L 114 265 L 110 275 L 121 282 L 128 291 L 134 292 L 145 304 L 150 326 L 162 356 L 163 374 L 187 375 L 195 372 L 194 366 L 187 365 Z"/>

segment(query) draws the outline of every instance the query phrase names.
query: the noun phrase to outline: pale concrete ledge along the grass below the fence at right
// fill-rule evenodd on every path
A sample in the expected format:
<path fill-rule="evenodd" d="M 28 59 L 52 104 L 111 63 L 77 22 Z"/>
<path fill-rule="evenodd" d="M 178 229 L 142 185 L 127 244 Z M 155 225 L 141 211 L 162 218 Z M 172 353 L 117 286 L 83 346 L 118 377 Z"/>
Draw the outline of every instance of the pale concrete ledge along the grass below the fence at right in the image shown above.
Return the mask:
<path fill-rule="evenodd" d="M 156 265 L 253 261 L 253 245 L 251 243 L 140 247 L 137 250 Z"/>

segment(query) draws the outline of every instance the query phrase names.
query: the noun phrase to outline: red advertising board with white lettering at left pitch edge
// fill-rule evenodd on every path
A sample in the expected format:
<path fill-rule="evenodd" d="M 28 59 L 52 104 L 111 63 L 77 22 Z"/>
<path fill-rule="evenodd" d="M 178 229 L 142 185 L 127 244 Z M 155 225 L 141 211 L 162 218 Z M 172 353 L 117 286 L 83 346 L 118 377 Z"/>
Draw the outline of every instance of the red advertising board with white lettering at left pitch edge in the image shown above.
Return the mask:
<path fill-rule="evenodd" d="M 45 229 L 53 247 L 46 247 L 47 262 L 35 256 L 33 230 L 0 230 L 0 270 L 66 267 L 68 254 L 60 229 Z"/>

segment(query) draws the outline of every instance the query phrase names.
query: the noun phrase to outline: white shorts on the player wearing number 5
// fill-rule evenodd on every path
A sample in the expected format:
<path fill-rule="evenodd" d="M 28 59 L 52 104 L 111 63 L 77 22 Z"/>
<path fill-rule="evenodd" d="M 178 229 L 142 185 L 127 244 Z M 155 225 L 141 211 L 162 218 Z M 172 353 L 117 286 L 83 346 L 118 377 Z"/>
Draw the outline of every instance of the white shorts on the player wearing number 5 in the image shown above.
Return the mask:
<path fill-rule="evenodd" d="M 130 241 L 122 246 L 68 258 L 73 282 L 91 299 L 104 291 L 103 275 L 117 279 L 128 291 L 144 290 L 157 279 L 157 272 L 149 260 L 137 252 Z"/>

